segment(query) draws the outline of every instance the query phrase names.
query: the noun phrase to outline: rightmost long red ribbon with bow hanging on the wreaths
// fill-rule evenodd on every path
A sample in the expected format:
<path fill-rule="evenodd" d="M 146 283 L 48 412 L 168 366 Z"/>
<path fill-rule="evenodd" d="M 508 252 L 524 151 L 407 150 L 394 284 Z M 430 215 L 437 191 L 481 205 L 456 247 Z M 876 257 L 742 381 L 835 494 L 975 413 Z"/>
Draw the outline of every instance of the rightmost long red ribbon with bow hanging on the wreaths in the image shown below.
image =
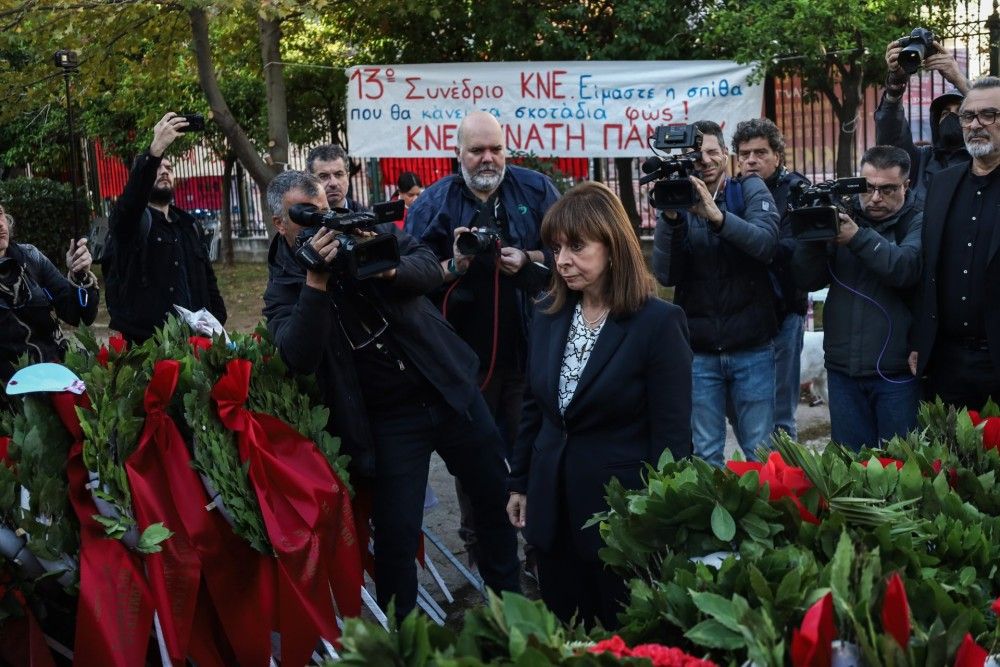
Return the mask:
<path fill-rule="evenodd" d="M 341 614 L 361 612 L 354 517 L 347 489 L 316 446 L 281 420 L 246 409 L 250 372 L 246 359 L 230 361 L 212 399 L 237 434 L 277 554 L 282 662 L 305 664 L 319 637 L 339 637 L 331 591 Z"/>

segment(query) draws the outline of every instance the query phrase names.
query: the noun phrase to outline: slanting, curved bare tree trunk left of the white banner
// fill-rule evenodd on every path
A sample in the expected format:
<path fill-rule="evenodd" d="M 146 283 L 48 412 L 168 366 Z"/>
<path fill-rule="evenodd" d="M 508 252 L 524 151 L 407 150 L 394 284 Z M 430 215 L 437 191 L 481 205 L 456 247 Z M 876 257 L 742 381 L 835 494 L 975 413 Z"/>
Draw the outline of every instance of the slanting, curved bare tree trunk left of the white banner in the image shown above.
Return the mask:
<path fill-rule="evenodd" d="M 194 7 L 188 12 L 188 15 L 191 18 L 194 52 L 198 61 L 198 81 L 208 100 L 208 105 L 212 109 L 212 117 L 222 133 L 226 135 L 226 139 L 229 140 L 229 145 L 236 152 L 237 159 L 243 163 L 247 171 L 250 172 L 250 177 L 256 181 L 257 186 L 263 192 L 267 188 L 267 184 L 274 178 L 275 172 L 257 153 L 257 148 L 240 127 L 222 95 L 219 80 L 215 76 L 215 66 L 212 62 L 212 46 L 208 38 L 208 17 L 205 15 L 205 10 Z"/>

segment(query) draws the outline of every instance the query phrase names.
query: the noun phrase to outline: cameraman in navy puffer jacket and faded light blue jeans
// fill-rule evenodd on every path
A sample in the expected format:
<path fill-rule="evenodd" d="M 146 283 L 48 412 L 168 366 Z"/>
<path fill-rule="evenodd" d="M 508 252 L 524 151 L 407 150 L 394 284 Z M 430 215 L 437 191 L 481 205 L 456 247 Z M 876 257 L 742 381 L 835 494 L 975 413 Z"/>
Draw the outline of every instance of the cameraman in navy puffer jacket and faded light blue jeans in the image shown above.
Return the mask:
<path fill-rule="evenodd" d="M 694 351 L 694 453 L 721 466 L 726 406 L 736 437 L 752 455 L 774 428 L 774 344 L 778 331 L 767 267 L 778 241 L 778 211 L 757 176 L 728 175 L 722 128 L 698 121 L 700 173 L 690 176 L 699 201 L 686 211 L 664 210 L 656 225 L 653 272 L 676 286 L 674 302 L 687 314 Z"/>

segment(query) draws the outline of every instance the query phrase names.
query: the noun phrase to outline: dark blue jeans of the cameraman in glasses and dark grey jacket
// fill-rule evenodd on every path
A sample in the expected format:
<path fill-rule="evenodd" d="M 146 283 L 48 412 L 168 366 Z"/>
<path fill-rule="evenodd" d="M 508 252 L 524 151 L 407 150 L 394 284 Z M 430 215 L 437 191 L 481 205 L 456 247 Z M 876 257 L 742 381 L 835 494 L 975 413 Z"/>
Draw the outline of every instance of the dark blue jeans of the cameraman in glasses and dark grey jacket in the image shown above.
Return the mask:
<path fill-rule="evenodd" d="M 830 437 L 858 451 L 904 435 L 917 425 L 920 383 L 907 374 L 853 378 L 827 369 L 830 393 Z"/>

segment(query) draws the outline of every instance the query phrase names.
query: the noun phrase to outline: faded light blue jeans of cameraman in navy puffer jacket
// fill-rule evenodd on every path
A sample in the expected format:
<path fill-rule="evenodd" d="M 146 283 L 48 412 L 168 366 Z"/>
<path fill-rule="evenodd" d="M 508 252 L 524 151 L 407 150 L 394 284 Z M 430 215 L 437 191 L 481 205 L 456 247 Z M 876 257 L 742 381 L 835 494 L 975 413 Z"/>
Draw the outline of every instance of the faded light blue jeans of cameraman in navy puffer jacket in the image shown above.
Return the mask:
<path fill-rule="evenodd" d="M 739 352 L 696 352 L 692 368 L 691 431 L 695 456 L 725 462 L 726 404 L 736 416 L 736 439 L 747 458 L 774 429 L 774 345 Z"/>

